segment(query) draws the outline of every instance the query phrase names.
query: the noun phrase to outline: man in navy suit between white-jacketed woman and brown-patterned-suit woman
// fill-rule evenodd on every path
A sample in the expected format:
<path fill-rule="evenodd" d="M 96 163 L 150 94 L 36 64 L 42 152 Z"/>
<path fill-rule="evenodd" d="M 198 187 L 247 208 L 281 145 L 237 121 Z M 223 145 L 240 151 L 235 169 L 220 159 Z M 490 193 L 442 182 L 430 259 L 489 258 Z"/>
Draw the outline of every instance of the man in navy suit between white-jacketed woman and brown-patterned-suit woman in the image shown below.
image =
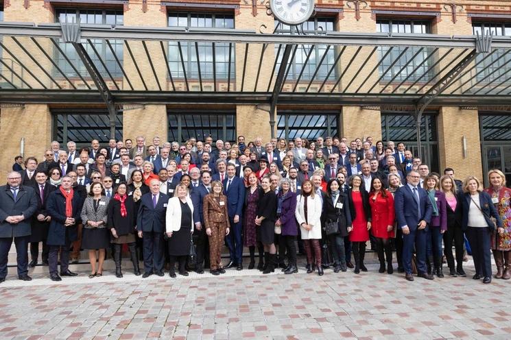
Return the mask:
<path fill-rule="evenodd" d="M 195 230 L 193 236 L 195 240 L 195 249 L 197 251 L 197 264 L 195 265 L 195 272 L 197 274 L 204 274 L 204 267 L 208 267 L 208 236 L 206 235 L 206 228 L 204 227 L 204 214 L 202 213 L 202 202 L 204 197 L 211 192 L 211 172 L 203 171 L 201 175 L 202 182 L 199 186 L 191 191 L 191 202 L 193 203 L 193 221 L 195 221 Z M 205 264 L 205 266 L 204 266 Z"/>

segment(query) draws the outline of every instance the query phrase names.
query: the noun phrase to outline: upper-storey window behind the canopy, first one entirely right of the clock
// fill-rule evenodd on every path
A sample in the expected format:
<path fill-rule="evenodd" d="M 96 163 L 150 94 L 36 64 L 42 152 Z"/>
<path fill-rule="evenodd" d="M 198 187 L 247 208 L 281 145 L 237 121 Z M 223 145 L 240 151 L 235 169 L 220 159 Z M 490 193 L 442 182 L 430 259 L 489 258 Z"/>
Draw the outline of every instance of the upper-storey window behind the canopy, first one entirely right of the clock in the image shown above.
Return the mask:
<path fill-rule="evenodd" d="M 431 33 L 429 21 L 413 21 L 413 20 L 377 20 L 376 22 L 377 32 L 383 33 L 414 33 L 414 34 L 429 34 Z M 411 75 L 408 80 L 414 81 L 421 77 L 433 64 L 431 58 L 424 60 L 433 51 L 433 47 L 427 47 L 422 52 L 415 54 L 420 50 L 420 47 L 409 47 L 405 53 L 403 50 L 405 47 L 394 47 L 390 53 L 388 53 L 390 46 L 383 46 L 378 48 L 379 60 L 383 58 L 379 66 L 379 75 L 383 75 L 382 80 L 390 81 L 395 77 L 394 81 L 402 82 L 408 75 L 418 67 L 418 69 Z M 388 54 L 387 54 L 388 53 Z M 401 57 L 399 57 L 403 53 Z M 399 60 L 398 60 L 399 58 Z M 412 59 L 413 58 L 413 59 Z M 397 62 L 390 68 L 392 63 Z M 409 60 L 412 60 L 409 62 Z M 409 62 L 409 64 L 407 64 Z M 424 63 L 423 63 L 424 62 Z M 407 65 L 405 67 L 405 65 Z M 419 66 L 420 65 L 420 66 Z M 405 67 L 403 69 L 403 67 Z M 390 68 L 390 69 L 389 69 Z M 401 71 L 403 69 L 403 71 Z M 399 73 L 401 71 L 401 73 Z M 420 78 L 421 81 L 427 82 L 433 77 L 433 73 L 429 71 L 424 77 Z"/>

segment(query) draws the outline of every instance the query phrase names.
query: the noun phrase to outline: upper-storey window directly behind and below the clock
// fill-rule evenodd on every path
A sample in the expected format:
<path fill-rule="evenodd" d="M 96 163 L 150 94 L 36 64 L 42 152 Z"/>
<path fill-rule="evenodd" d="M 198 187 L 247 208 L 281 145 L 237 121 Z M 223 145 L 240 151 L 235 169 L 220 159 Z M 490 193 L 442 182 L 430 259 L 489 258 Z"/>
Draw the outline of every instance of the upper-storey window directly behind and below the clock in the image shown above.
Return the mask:
<path fill-rule="evenodd" d="M 278 25 L 278 21 L 275 21 L 275 27 Z M 318 17 L 310 19 L 309 21 L 305 21 L 302 23 L 300 29 L 303 29 L 305 33 L 314 34 L 315 32 L 333 32 L 333 18 L 327 17 Z M 295 26 L 289 26 L 280 24 L 276 31 L 278 34 L 297 34 Z M 311 50 L 311 45 L 298 45 L 298 49 L 296 50 L 294 59 L 292 60 L 291 69 L 289 69 L 289 73 L 287 75 L 287 79 L 296 80 L 300 76 L 300 72 L 303 69 L 305 64 L 305 60 L 307 59 L 307 55 Z M 277 54 L 278 46 L 275 47 L 275 55 Z M 311 77 L 314 75 L 318 64 L 323 58 L 324 53 L 326 52 L 326 57 L 324 58 L 320 69 L 318 70 L 318 75 L 316 75 L 316 80 L 324 80 L 324 77 L 329 73 L 330 69 L 335 62 L 335 50 L 331 47 L 328 51 L 326 51 L 326 45 L 316 45 L 307 61 L 307 65 L 305 65 L 305 70 L 303 70 L 302 77 L 300 80 L 311 80 Z M 277 64 L 281 64 L 283 56 L 283 49 L 281 49 L 281 53 L 278 55 Z M 280 66 L 278 66 L 280 67 Z M 330 80 L 335 80 L 335 72 L 332 72 Z"/>

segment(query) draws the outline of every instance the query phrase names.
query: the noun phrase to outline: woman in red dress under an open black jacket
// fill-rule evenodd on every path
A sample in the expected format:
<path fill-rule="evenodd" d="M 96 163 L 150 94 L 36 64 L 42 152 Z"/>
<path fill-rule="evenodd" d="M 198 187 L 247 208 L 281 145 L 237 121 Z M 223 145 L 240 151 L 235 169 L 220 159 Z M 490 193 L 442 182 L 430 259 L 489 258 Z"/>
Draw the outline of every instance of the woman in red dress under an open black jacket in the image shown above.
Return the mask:
<path fill-rule="evenodd" d="M 360 271 L 367 271 L 364 265 L 366 256 L 366 242 L 369 241 L 369 230 L 371 228 L 371 207 L 369 195 L 364 189 L 364 181 L 360 175 L 353 175 L 350 181 L 351 189 L 348 192 L 350 202 L 350 213 L 353 230 L 350 232 L 353 257 L 355 257 L 355 274 Z"/>

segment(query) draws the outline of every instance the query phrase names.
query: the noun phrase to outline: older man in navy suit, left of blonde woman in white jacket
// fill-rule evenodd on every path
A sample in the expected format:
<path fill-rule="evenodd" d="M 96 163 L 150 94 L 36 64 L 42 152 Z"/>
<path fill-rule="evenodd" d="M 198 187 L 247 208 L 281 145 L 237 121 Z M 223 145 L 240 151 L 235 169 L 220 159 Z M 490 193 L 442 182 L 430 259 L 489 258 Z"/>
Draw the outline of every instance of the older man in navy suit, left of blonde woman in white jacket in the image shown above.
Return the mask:
<path fill-rule="evenodd" d="M 169 196 L 160 192 L 160 181 L 151 180 L 150 192 L 142 195 L 136 231 L 143 240 L 144 274 L 163 276 L 163 232 Z"/>

